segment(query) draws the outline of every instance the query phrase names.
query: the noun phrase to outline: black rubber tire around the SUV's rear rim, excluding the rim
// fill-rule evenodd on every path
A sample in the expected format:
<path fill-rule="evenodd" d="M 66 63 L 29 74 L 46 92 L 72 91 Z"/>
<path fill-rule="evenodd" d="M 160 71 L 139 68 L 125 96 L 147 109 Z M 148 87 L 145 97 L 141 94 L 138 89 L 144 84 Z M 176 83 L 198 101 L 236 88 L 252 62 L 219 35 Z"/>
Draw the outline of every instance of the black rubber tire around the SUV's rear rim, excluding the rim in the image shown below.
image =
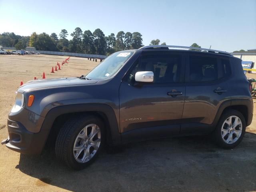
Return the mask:
<path fill-rule="evenodd" d="M 236 142 L 234 143 L 226 143 L 224 142 L 224 140 L 222 139 L 222 125 L 224 124 L 225 120 L 228 119 L 230 116 L 237 116 L 238 118 L 240 118 L 241 123 L 242 123 L 242 133 L 240 135 L 240 137 L 236 140 Z M 215 140 L 215 142 L 218 144 L 218 146 L 224 148 L 224 149 L 232 149 L 234 147 L 236 147 L 238 144 L 240 144 L 240 142 L 242 141 L 244 134 L 245 134 L 245 130 L 246 130 L 246 122 L 244 119 L 244 116 L 237 110 L 226 110 L 221 116 L 220 116 L 220 120 L 213 132 L 213 138 Z"/>

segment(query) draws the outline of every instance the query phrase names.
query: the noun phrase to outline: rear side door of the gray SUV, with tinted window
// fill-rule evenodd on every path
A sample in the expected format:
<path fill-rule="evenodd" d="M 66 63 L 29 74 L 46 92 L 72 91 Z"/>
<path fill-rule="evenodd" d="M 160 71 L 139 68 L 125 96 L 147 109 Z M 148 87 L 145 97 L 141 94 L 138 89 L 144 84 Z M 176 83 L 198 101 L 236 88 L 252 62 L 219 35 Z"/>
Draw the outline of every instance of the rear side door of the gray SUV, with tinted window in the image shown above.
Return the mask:
<path fill-rule="evenodd" d="M 204 133 L 214 121 L 222 102 L 231 99 L 231 68 L 228 57 L 188 55 L 186 98 L 181 134 Z M 234 86 L 232 86 L 234 87 Z"/>

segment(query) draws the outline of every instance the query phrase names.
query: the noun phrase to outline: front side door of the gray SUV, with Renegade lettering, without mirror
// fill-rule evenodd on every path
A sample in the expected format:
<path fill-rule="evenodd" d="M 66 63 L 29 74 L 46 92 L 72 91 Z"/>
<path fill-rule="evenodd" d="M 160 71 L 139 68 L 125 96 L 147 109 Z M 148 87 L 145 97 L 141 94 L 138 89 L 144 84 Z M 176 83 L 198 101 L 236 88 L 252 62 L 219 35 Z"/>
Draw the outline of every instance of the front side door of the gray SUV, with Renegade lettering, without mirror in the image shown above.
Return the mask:
<path fill-rule="evenodd" d="M 122 140 L 143 140 L 180 132 L 185 84 L 184 62 L 179 54 L 140 56 L 120 85 Z M 138 71 L 154 72 L 150 83 L 136 83 Z"/>

